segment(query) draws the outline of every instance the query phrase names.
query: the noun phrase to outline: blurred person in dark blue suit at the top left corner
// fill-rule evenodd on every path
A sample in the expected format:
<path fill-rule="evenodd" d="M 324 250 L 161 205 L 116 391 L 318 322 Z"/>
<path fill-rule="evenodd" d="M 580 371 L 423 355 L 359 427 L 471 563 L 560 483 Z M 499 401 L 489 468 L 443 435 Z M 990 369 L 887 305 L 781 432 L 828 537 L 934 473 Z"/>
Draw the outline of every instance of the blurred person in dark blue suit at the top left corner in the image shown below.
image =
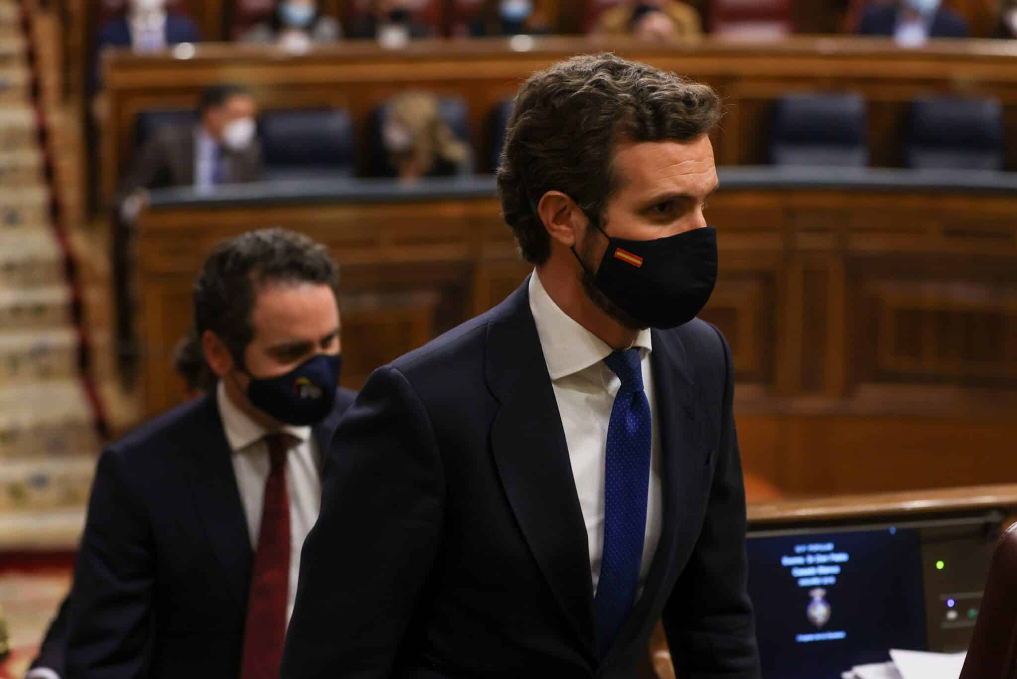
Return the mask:
<path fill-rule="evenodd" d="M 124 16 L 104 24 L 96 36 L 96 56 L 91 69 L 91 91 L 101 81 L 99 55 L 106 47 L 129 47 L 135 52 L 159 52 L 179 43 L 201 40 L 197 26 L 186 16 L 166 11 L 167 0 L 129 0 Z"/>

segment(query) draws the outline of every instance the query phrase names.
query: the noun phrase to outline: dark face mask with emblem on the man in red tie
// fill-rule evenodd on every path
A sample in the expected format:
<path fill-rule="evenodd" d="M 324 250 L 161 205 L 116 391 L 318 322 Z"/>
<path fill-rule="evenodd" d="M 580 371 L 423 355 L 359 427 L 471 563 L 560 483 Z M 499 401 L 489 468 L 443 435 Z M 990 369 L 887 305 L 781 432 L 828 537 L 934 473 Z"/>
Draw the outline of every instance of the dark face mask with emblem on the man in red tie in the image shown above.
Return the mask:
<path fill-rule="evenodd" d="M 303 427 L 317 424 L 332 412 L 339 388 L 343 356 L 318 354 L 276 377 L 254 377 L 247 398 L 280 422 Z"/>

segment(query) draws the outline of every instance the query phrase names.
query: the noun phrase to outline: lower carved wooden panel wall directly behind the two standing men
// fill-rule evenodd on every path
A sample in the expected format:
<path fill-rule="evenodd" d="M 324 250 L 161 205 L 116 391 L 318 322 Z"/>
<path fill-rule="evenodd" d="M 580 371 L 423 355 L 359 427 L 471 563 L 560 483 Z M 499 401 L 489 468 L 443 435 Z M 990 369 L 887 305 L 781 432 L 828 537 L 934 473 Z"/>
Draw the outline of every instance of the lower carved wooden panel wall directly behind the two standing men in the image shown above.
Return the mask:
<path fill-rule="evenodd" d="M 745 467 L 789 495 L 1017 481 L 1017 196 L 721 191 L 721 277 Z M 161 208 L 141 219 L 145 407 L 202 256 L 252 224 L 343 266 L 344 383 L 480 313 L 528 267 L 494 199 Z"/>

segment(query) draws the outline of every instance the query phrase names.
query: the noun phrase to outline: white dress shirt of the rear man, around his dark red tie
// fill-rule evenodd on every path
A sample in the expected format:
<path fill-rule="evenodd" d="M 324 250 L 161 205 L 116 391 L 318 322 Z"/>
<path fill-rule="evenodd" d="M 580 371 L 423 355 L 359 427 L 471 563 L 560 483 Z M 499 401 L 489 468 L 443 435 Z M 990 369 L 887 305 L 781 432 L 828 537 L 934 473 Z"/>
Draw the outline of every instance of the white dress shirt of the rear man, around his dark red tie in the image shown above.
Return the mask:
<path fill-rule="evenodd" d="M 264 437 L 271 432 L 233 405 L 222 381 L 216 388 L 216 398 L 226 429 L 226 440 L 233 450 L 233 473 L 237 477 L 237 489 L 247 517 L 251 549 L 257 550 L 264 484 L 272 468 Z M 311 428 L 285 427 L 282 431 L 300 441 L 286 456 L 286 492 L 290 498 L 290 587 L 286 593 L 286 619 L 289 621 L 293 614 L 293 600 L 297 596 L 300 548 L 321 508 L 321 475 L 318 466 L 320 451 Z"/>

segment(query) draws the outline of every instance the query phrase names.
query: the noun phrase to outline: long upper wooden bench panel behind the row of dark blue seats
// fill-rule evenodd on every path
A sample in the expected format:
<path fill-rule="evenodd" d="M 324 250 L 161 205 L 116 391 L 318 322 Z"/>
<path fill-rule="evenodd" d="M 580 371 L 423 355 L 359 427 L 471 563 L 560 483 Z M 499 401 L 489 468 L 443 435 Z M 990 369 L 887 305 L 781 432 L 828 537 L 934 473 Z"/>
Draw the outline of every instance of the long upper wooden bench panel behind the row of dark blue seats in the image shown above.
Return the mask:
<path fill-rule="evenodd" d="M 109 101 L 103 133 L 105 196 L 130 162 L 139 112 L 188 108 L 205 85 L 243 82 L 264 109 L 335 106 L 361 125 L 371 110 L 410 87 L 463 97 L 478 159 L 490 158 L 492 109 L 533 71 L 583 52 L 611 49 L 709 82 L 728 105 L 715 143 L 722 165 L 766 162 L 771 102 L 795 91 L 861 92 L 870 105 L 875 166 L 902 161 L 908 103 L 954 94 L 995 97 L 1005 106 L 1007 166 L 1017 169 L 1017 48 L 1002 42 L 941 43 L 897 50 L 882 40 L 795 39 L 779 44 L 705 41 L 679 49 L 622 42 L 547 39 L 516 51 L 501 40 L 419 43 L 401 52 L 348 44 L 292 57 L 274 50 L 203 46 L 188 59 L 119 53 L 107 62 Z M 361 142 L 361 167 L 366 167 Z M 484 167 L 480 168 L 484 170 Z"/>

